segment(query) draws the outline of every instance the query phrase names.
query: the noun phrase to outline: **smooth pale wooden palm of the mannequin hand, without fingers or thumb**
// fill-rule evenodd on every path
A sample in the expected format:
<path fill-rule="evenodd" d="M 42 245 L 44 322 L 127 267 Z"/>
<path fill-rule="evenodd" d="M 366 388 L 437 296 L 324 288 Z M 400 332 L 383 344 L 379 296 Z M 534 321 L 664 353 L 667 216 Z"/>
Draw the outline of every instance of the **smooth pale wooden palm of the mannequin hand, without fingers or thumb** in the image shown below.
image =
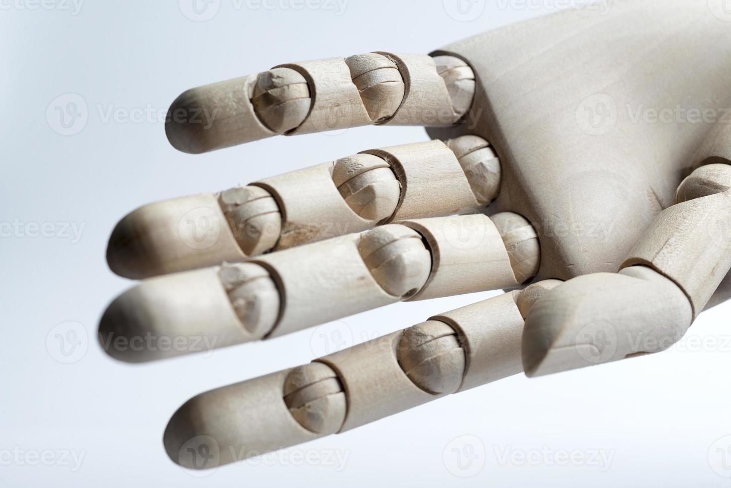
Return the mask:
<path fill-rule="evenodd" d="M 728 124 L 643 115 L 731 107 L 731 29 L 703 1 L 617 0 L 604 16 L 572 9 L 434 54 L 445 53 L 474 69 L 476 94 L 467 123 L 428 131 L 491 142 L 503 172 L 496 211 L 539 232 L 536 279 L 616 272 L 696 161 L 731 148 L 711 135 Z"/>

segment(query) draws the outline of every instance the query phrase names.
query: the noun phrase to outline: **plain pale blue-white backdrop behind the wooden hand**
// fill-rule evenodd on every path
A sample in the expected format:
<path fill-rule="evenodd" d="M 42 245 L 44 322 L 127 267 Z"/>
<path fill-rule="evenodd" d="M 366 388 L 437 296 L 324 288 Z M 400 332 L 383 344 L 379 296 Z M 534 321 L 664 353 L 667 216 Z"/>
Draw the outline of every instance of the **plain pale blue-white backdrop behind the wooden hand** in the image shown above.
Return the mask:
<path fill-rule="evenodd" d="M 107 120 L 109 110 L 166 110 L 186 88 L 287 61 L 427 53 L 555 9 L 551 1 L 477 0 L 467 14 L 450 16 L 454 1 L 445 1 L 447 8 L 442 0 L 349 0 L 341 11 L 338 4 L 293 9 L 286 1 L 265 8 L 220 0 L 207 21 L 183 15 L 190 0 L 181 0 L 183 8 L 176 0 L 86 0 L 79 10 L 70 2 L 0 1 L 0 221 L 20 229 L 8 235 L 6 226 L 0 238 L 0 486 L 731 486 L 719 475 L 730 470 L 711 467 L 721 460 L 716 448 L 731 446 L 729 439 L 716 443 L 731 435 L 728 305 L 704 313 L 690 330 L 717 341 L 702 350 L 675 348 L 535 380 L 518 375 L 203 479 L 167 458 L 162 432 L 170 415 L 199 392 L 309 362 L 320 352 L 317 337 L 305 330 L 142 366 L 115 362 L 97 345 L 99 316 L 132 285 L 105 264 L 107 237 L 125 213 L 427 139 L 419 128 L 369 127 L 190 156 L 170 147 L 162 122 Z M 70 128 L 77 134 L 58 134 L 53 101 L 64 94 L 86 103 L 86 125 Z M 79 99 L 60 106 L 69 100 Z M 32 237 L 32 223 L 56 231 Z M 65 224 L 83 226 L 80 239 L 60 232 Z M 490 295 L 401 303 L 318 332 L 339 327 L 361 342 Z M 71 336 L 54 329 L 66 321 L 82 332 L 71 364 L 58 361 L 66 357 L 56 334 Z M 43 451 L 50 465 L 31 465 Z M 63 451 L 83 456 L 80 465 L 61 459 Z M 469 464 L 464 455 L 472 452 Z M 507 462 L 506 452 L 513 453 Z M 552 454 L 562 452 L 584 460 L 556 462 Z M 587 462 L 596 452 L 610 462 Z M 285 457 L 292 453 L 346 461 L 294 465 Z M 520 453 L 530 462 L 520 462 Z M 466 474 L 474 476 L 458 476 Z"/>

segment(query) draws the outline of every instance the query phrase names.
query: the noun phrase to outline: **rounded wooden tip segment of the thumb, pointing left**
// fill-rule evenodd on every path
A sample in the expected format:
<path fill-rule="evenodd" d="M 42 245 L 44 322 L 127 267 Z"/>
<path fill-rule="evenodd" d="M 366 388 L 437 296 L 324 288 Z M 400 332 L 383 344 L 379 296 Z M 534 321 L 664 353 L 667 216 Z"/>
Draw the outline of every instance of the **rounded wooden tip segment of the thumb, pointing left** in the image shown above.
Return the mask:
<path fill-rule="evenodd" d="M 539 376 L 663 351 L 692 320 L 683 291 L 649 267 L 579 276 L 535 302 L 523 330 L 523 367 Z"/>

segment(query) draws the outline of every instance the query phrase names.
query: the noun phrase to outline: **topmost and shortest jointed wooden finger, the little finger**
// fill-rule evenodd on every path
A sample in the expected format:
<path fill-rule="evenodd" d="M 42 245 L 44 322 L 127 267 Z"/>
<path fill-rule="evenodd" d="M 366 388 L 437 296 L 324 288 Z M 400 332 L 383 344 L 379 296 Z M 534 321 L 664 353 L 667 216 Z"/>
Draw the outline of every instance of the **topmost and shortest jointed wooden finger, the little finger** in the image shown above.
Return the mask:
<path fill-rule="evenodd" d="M 170 106 L 165 131 L 178 150 L 204 153 L 373 123 L 451 126 L 473 95 L 474 73 L 458 58 L 367 53 L 192 88 Z"/>

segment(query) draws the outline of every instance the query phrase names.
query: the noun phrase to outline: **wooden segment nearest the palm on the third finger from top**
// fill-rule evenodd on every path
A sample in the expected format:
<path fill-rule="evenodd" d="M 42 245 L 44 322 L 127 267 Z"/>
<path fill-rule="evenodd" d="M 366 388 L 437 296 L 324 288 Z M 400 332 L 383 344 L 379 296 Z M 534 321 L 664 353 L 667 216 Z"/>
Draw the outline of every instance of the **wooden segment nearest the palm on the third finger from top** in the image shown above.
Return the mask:
<path fill-rule="evenodd" d="M 411 300 L 510 288 L 519 283 L 493 221 L 482 214 L 401 222 L 419 232 L 431 250 L 431 275 Z"/>

